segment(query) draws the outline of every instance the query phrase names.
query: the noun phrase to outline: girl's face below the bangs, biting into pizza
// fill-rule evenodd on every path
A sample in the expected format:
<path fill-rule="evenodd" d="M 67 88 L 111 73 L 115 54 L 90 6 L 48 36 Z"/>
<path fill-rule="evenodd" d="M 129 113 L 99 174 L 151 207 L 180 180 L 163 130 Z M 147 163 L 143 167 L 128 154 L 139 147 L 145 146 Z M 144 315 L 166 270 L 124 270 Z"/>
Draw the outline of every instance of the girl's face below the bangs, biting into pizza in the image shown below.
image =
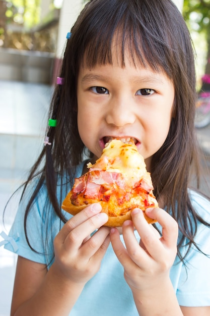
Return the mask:
<path fill-rule="evenodd" d="M 80 68 L 78 129 L 95 159 L 110 137 L 133 138 L 150 170 L 151 157 L 169 132 L 174 86 L 163 73 L 134 67 L 128 59 L 125 65 Z"/>

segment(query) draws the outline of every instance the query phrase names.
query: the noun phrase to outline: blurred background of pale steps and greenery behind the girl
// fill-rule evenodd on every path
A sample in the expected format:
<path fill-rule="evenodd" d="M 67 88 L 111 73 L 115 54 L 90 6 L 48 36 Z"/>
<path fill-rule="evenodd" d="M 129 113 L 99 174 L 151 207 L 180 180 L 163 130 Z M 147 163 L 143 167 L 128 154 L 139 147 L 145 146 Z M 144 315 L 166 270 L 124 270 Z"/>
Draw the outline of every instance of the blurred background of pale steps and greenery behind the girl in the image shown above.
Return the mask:
<path fill-rule="evenodd" d="M 87 1 L 0 0 L 0 234 L 8 234 L 20 193 L 43 146 L 49 102 L 66 34 Z M 195 127 L 210 182 L 210 0 L 174 0 L 196 51 Z M 202 181 L 201 190 L 210 195 Z M 5 242 L 0 235 L 0 245 Z M 0 247 L 0 316 L 9 316 L 16 255 Z"/>

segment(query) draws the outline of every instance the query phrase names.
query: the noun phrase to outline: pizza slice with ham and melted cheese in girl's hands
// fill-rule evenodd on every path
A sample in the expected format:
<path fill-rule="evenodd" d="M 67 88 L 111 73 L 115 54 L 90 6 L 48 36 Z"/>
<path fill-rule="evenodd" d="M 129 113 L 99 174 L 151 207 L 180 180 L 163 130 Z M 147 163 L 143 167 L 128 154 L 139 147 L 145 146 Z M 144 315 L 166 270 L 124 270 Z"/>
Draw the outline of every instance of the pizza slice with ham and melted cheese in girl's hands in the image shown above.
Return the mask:
<path fill-rule="evenodd" d="M 132 141 L 111 140 L 96 163 L 87 166 L 89 171 L 75 179 L 62 203 L 66 212 L 76 215 L 87 205 L 99 202 L 109 217 L 105 226 L 121 227 L 125 220 L 131 220 L 135 207 L 143 210 L 148 223 L 155 222 L 145 214 L 148 207 L 158 207 L 151 175 Z"/>

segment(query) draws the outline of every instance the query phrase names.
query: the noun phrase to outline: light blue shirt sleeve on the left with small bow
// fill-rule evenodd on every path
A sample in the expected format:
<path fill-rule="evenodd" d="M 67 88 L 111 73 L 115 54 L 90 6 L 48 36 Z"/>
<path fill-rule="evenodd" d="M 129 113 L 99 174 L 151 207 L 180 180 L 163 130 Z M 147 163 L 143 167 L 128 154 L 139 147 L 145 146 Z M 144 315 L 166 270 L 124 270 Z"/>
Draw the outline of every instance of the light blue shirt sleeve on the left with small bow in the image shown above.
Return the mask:
<path fill-rule="evenodd" d="M 75 177 L 81 176 L 85 163 L 87 163 L 87 161 L 82 162 L 76 168 L 72 169 L 72 174 Z M 50 267 L 54 258 L 53 240 L 62 228 L 63 223 L 55 214 L 49 202 L 46 187 L 43 184 L 33 201 L 27 217 L 26 237 L 24 229 L 25 211 L 29 198 L 31 197 L 31 192 L 34 191 L 36 186 L 36 181 L 37 180 L 32 180 L 27 186 L 19 204 L 9 235 L 7 236 L 3 232 L 2 237 L 5 239 L 4 244 L 6 249 L 17 253 L 24 258 L 48 265 L 48 267 Z M 71 186 L 67 176 L 64 178 L 64 182 L 66 183 L 64 186 L 65 189 L 61 189 L 59 181 L 60 180 L 58 179 L 57 198 L 58 200 L 63 200 L 66 193 L 71 190 Z M 63 210 L 61 212 L 63 212 L 66 220 L 72 217 L 72 215 L 64 212 Z"/>

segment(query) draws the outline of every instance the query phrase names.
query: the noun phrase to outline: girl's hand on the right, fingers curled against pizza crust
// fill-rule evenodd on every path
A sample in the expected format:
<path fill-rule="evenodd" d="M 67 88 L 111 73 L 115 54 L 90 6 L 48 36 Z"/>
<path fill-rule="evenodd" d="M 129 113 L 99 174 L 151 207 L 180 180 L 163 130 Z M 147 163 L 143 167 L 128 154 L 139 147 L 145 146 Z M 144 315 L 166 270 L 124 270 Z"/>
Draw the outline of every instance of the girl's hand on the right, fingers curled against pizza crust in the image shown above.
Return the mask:
<path fill-rule="evenodd" d="M 113 249 L 132 291 L 158 289 L 161 282 L 169 280 L 169 270 L 177 253 L 178 225 L 175 220 L 161 208 L 149 208 L 146 213 L 161 224 L 161 238 L 138 208 L 132 211 L 132 221 L 124 222 L 122 227 L 126 248 L 116 229 L 111 229 L 110 233 Z M 134 236 L 134 227 L 141 237 L 140 244 Z"/>

